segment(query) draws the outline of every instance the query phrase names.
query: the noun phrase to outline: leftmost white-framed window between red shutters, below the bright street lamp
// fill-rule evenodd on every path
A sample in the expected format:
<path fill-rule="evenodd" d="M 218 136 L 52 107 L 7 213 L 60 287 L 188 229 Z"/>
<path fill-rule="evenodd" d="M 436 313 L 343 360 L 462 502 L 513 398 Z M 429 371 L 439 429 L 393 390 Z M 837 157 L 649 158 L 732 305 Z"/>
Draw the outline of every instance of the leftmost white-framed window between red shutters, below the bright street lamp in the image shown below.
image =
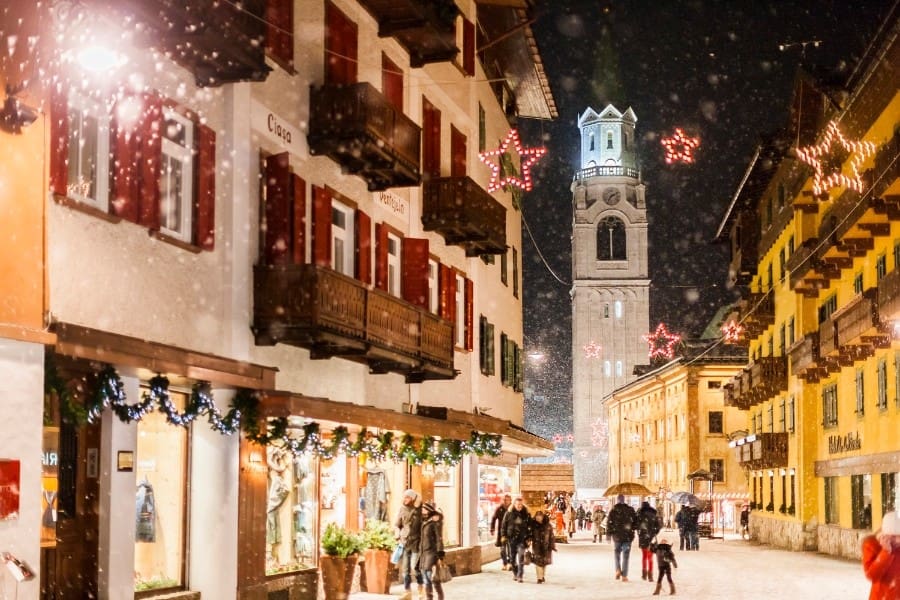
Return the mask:
<path fill-rule="evenodd" d="M 102 102 L 72 94 L 68 113 L 66 195 L 103 212 L 109 209 L 110 118 Z"/>

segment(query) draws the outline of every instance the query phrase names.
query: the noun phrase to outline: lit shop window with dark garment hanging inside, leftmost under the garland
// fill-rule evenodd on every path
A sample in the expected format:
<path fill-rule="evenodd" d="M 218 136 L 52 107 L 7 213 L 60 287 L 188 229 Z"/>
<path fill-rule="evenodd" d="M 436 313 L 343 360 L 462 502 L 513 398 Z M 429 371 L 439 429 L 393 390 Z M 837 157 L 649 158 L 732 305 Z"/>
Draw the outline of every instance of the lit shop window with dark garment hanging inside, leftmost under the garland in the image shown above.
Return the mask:
<path fill-rule="evenodd" d="M 185 394 L 169 392 L 184 411 Z M 135 591 L 184 584 L 188 429 L 152 412 L 137 423 L 135 448 Z"/>

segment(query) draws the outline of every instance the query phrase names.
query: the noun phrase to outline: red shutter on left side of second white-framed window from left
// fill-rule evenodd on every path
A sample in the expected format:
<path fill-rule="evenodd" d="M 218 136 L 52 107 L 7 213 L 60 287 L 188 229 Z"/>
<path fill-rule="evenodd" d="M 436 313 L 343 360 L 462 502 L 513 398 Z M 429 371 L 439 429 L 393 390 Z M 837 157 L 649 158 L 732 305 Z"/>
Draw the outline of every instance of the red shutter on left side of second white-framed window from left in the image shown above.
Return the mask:
<path fill-rule="evenodd" d="M 138 223 L 150 229 L 159 229 L 159 171 L 162 163 L 162 98 L 144 94 L 141 120 L 138 124 L 140 146 L 137 155 L 140 173 Z"/>

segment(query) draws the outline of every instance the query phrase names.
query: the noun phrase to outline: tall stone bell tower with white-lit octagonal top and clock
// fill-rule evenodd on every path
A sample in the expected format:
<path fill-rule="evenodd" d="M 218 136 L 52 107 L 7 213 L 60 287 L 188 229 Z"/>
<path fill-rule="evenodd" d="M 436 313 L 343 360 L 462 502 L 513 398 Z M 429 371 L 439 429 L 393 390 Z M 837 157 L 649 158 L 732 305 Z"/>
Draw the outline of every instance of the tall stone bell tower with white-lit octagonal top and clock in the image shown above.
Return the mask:
<path fill-rule="evenodd" d="M 647 364 L 650 279 L 645 186 L 629 108 L 578 118 L 581 168 L 572 181 L 573 461 L 579 490 L 610 482 L 604 398 Z M 630 473 L 630 471 L 629 471 Z"/>

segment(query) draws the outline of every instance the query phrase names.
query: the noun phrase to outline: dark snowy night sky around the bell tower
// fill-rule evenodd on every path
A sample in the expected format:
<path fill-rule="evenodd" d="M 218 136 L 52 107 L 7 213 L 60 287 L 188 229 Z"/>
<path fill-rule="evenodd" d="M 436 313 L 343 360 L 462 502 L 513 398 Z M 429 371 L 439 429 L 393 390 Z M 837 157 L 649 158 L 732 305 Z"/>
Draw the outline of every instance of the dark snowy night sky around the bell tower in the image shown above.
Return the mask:
<path fill-rule="evenodd" d="M 523 234 L 526 427 L 571 431 L 572 198 L 578 115 L 612 102 L 637 114 L 650 238 L 650 324 L 699 336 L 739 296 L 726 289 L 728 250 L 716 229 L 761 136 L 787 122 L 801 63 L 846 78 L 895 0 L 537 0 L 532 29 L 559 110 L 521 120 L 523 143 L 549 153 L 534 170 L 523 216 L 549 267 Z M 819 40 L 818 46 L 812 42 Z M 783 45 L 784 49 L 779 49 Z M 659 139 L 699 136 L 692 165 L 666 165 Z"/>

